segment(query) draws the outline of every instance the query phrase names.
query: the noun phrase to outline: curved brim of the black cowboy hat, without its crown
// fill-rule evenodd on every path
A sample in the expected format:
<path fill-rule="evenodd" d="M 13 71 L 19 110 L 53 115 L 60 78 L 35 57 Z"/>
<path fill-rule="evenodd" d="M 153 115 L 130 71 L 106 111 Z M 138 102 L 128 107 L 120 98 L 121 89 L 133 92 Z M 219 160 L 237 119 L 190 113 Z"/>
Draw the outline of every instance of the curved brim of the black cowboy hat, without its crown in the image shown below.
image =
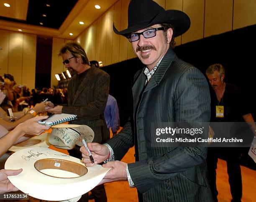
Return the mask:
<path fill-rule="evenodd" d="M 156 15 L 156 17 L 147 25 L 138 24 L 128 27 L 125 30 L 118 31 L 115 27 L 115 24 L 113 23 L 113 30 L 116 34 L 126 37 L 130 33 L 161 23 L 168 23 L 173 25 L 174 37 L 184 34 L 190 27 L 190 19 L 186 13 L 179 10 L 165 10 L 164 12 L 160 12 L 158 15 Z"/>

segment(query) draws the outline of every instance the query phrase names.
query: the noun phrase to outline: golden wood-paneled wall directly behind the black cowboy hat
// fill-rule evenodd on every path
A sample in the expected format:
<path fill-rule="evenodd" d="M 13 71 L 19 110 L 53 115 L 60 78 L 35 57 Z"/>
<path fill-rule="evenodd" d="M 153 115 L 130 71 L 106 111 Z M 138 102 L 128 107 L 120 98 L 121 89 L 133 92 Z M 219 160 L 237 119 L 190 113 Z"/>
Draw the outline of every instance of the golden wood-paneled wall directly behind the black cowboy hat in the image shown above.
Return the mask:
<path fill-rule="evenodd" d="M 191 27 L 176 37 L 176 45 L 218 35 L 256 24 L 255 0 L 155 0 L 166 10 L 182 10 L 189 15 Z M 89 60 L 110 65 L 136 57 L 125 37 L 113 32 L 128 26 L 128 4 L 119 0 L 75 40 L 81 43 Z"/>

